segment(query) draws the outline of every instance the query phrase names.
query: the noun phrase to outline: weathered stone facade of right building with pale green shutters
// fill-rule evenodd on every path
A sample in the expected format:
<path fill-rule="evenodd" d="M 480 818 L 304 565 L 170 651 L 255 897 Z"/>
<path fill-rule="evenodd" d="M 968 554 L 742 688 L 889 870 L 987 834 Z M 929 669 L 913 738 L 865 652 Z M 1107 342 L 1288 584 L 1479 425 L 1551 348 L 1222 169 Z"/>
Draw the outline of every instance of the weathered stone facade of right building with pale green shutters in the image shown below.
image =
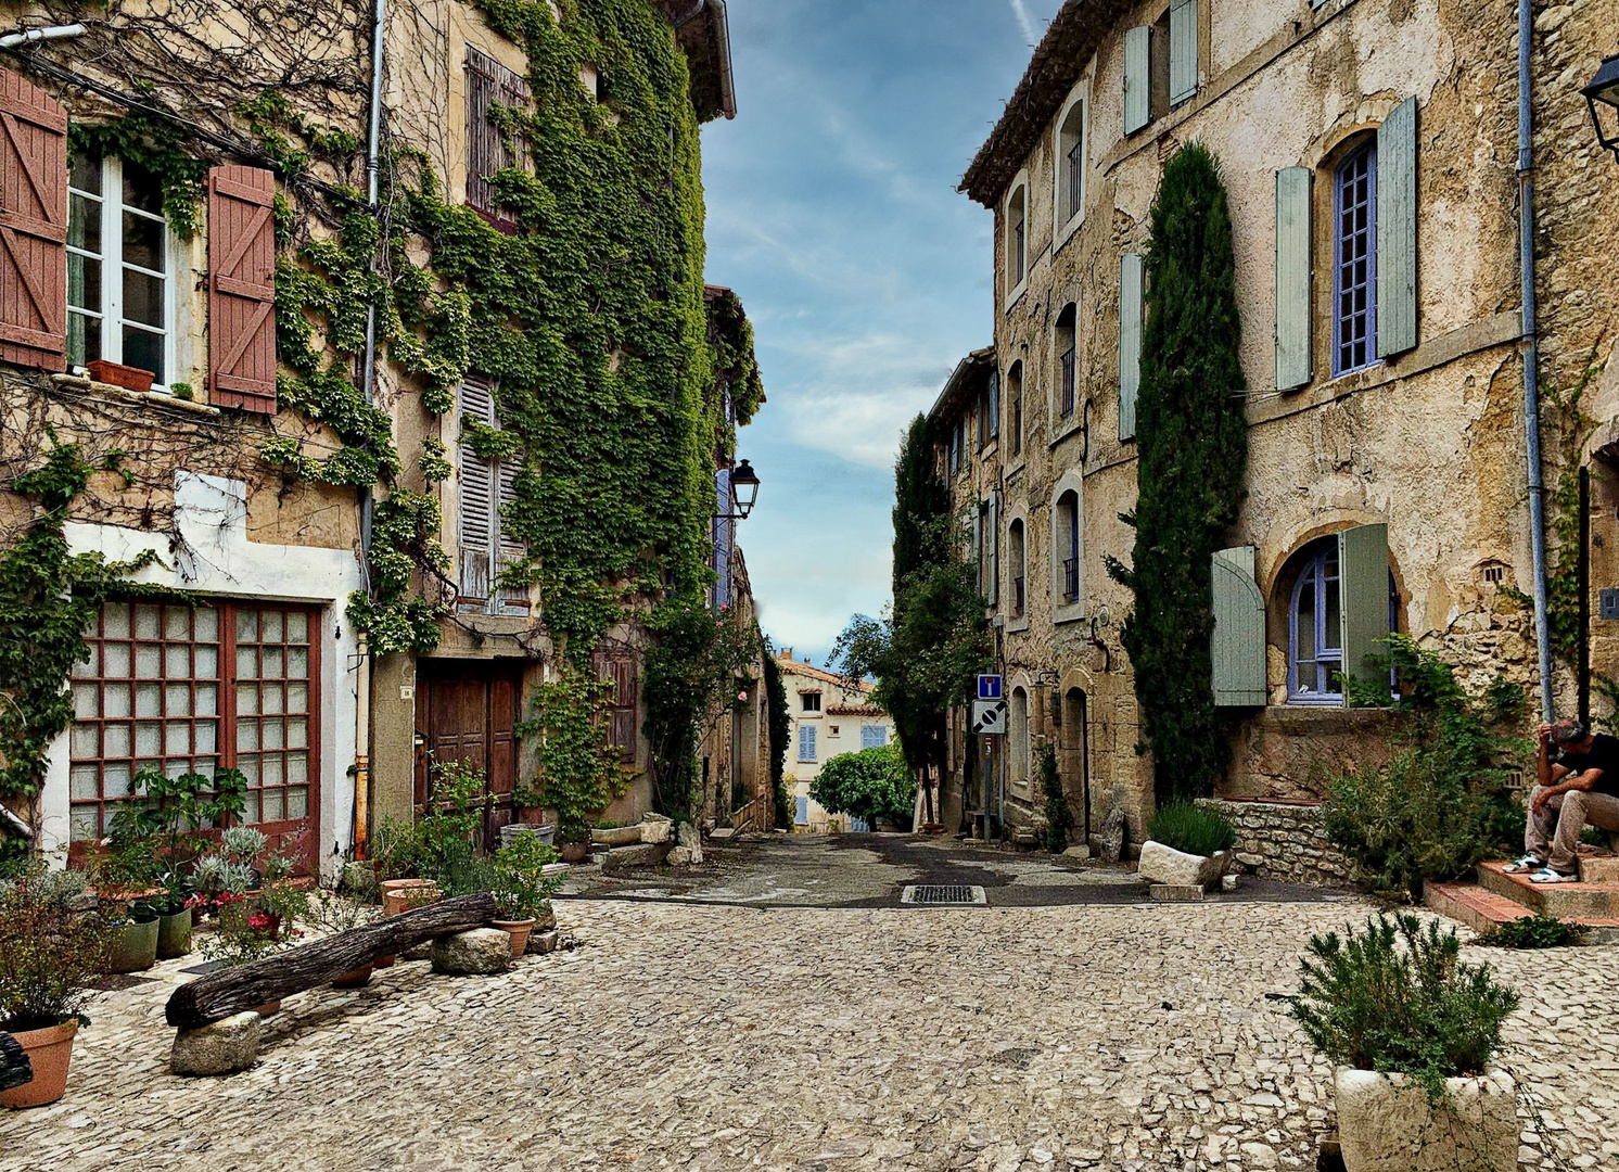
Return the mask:
<path fill-rule="evenodd" d="M 1549 486 L 1590 468 L 1593 609 L 1619 584 L 1619 481 L 1598 450 L 1619 410 L 1604 262 L 1619 168 L 1577 91 L 1614 28 L 1614 0 L 1536 5 L 1530 45 L 1543 463 Z M 1332 771 L 1378 758 L 1386 717 L 1345 707 L 1332 673 L 1379 623 L 1443 651 L 1470 686 L 1499 673 L 1538 688 L 1520 605 L 1533 570 L 1517 68 L 1517 11 L 1501 0 L 1062 6 L 962 185 L 996 217 L 994 345 L 933 421 L 1013 728 L 970 746 L 957 719 L 957 806 L 983 806 L 967 775 L 988 769 L 992 819 L 1030 821 L 1031 746 L 1051 740 L 1081 827 L 1122 809 L 1140 842 L 1151 814 L 1119 643 L 1132 601 L 1104 557 L 1128 563 L 1133 544 L 1120 515 L 1137 486 L 1148 215 L 1193 139 L 1230 201 L 1248 416 L 1247 499 L 1214 567 L 1234 749 L 1219 796 L 1316 801 Z M 1569 403 L 1582 379 L 1590 423 Z M 1554 571 L 1572 573 L 1580 550 L 1551 541 Z M 1593 628 L 1591 673 L 1613 673 L 1613 633 Z M 1567 659 L 1559 712 L 1600 691 Z"/>

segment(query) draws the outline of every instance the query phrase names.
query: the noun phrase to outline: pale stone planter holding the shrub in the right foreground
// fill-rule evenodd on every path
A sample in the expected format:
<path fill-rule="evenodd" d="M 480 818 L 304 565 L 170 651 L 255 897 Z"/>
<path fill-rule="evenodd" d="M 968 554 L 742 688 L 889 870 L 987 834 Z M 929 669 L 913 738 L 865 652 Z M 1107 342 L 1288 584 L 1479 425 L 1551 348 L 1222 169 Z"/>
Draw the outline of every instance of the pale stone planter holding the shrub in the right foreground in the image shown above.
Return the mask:
<path fill-rule="evenodd" d="M 1438 1109 L 1407 1075 L 1339 1067 L 1332 1085 L 1347 1172 L 1517 1169 L 1517 1098 L 1499 1070 L 1446 1078 Z"/>

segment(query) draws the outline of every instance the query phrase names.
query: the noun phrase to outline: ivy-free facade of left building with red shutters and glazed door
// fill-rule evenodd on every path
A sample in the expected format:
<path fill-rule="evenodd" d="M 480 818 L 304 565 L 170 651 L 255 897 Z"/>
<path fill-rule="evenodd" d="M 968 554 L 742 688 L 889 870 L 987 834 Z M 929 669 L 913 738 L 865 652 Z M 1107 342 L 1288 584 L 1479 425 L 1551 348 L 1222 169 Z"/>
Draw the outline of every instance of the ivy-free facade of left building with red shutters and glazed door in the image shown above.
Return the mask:
<path fill-rule="evenodd" d="M 521 47 L 473 5 L 390 5 L 372 110 L 371 5 L 0 8 L 6 31 L 50 31 L 0 60 L 0 107 L 21 128 L 0 151 L 0 207 L 8 231 L 15 217 L 26 228 L 0 259 L 0 484 L 37 468 L 52 444 L 78 444 L 105 469 L 73 503 L 70 552 L 113 562 L 149 552 L 133 581 L 183 592 L 104 609 L 87 633 L 92 659 L 71 682 L 76 720 L 50 749 L 42 792 L 8 805 L 60 860 L 105 834 L 142 766 L 238 767 L 251 787 L 246 821 L 300 843 L 308 868 L 330 868 L 380 819 L 413 816 L 431 759 L 465 758 L 489 774 L 492 835 L 516 816 L 513 788 L 533 777 L 533 738 L 516 725 L 559 654 L 534 591 L 497 581 L 521 552 L 500 534 L 510 476 L 445 423 L 499 427 L 494 389 L 468 374 L 453 406 L 432 411 L 424 363 L 406 361 L 403 345 L 379 346 L 369 372 L 351 361 L 363 308 L 306 317 L 278 298 L 303 264 L 291 261 L 298 249 L 340 246 L 345 217 L 366 207 L 372 113 L 384 168 L 403 159 L 447 202 L 482 210 L 484 201 L 499 219 L 489 178 L 523 167 L 499 131 L 500 108 L 525 100 Z M 722 0 L 646 0 L 646 10 L 686 63 L 678 84 L 695 123 L 733 117 Z M 563 19 L 555 5 L 549 13 Z M 581 70 L 580 84 L 601 100 L 602 126 L 615 125 L 601 78 Z M 667 134 L 674 159 L 675 128 Z M 191 202 L 173 197 L 186 183 L 199 185 L 196 207 L 176 214 Z M 421 264 L 424 238 L 406 240 L 406 259 Z M 729 321 L 745 321 L 740 303 L 727 304 Z M 366 447 L 334 411 L 288 401 L 287 338 L 300 330 L 312 330 L 316 364 L 346 387 L 343 401 L 358 403 L 364 384 L 353 414 L 374 408 L 366 418 L 385 424 L 398 465 L 387 490 L 374 476 L 298 474 Z M 130 377 L 136 389 L 113 385 Z M 724 520 L 737 414 L 729 389 L 719 393 L 711 601 L 756 631 L 735 524 Z M 436 458 L 448 473 L 429 478 Z M 437 539 L 448 568 L 418 568 L 411 591 L 445 617 L 432 651 L 377 656 L 348 604 L 376 588 L 372 505 L 402 490 L 442 510 L 440 531 L 424 539 Z M 0 552 L 37 515 L 24 495 L 0 492 Z M 630 622 L 596 654 L 599 675 L 617 683 L 610 735 L 636 772 L 609 811 L 620 819 L 652 803 L 644 644 Z M 763 690 L 753 691 L 708 725 L 704 753 L 724 756 L 727 792 L 704 793 L 703 809 L 719 821 L 733 780 L 748 800 L 769 788 Z"/>

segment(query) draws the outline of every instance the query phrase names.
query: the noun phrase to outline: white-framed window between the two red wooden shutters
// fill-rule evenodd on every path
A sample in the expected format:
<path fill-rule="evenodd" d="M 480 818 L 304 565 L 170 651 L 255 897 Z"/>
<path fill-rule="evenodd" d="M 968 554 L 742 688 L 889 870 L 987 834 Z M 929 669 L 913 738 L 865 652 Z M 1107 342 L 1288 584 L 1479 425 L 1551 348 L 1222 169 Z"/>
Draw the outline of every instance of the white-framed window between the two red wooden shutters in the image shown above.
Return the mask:
<path fill-rule="evenodd" d="M 68 364 L 173 369 L 164 188 L 141 163 L 74 152 L 68 170 Z"/>

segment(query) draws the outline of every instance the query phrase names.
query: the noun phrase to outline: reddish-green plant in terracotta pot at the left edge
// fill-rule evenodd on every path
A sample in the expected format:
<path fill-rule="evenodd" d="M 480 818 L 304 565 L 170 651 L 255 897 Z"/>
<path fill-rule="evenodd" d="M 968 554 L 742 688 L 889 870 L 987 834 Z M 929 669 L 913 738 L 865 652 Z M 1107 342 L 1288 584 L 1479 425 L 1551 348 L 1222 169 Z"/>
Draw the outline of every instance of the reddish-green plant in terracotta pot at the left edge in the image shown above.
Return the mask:
<path fill-rule="evenodd" d="M 73 911 L 83 879 L 60 874 L 34 868 L 0 882 L 0 1030 L 18 1041 L 34 1068 L 32 1080 L 0 1093 L 5 1107 L 62 1098 L 73 1036 L 89 1021 L 87 986 L 105 968 L 105 924 L 94 913 Z"/>

